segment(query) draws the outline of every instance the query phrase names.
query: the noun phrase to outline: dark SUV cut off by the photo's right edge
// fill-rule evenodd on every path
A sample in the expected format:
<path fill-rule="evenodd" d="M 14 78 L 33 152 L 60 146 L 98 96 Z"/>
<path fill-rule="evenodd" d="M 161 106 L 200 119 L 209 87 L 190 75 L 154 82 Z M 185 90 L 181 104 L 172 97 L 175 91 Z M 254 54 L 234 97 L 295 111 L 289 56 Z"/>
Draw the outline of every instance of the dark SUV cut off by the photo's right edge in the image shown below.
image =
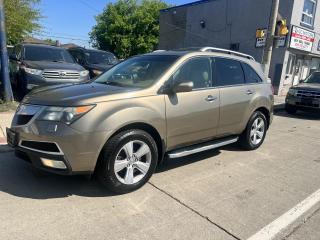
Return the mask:
<path fill-rule="evenodd" d="M 285 109 L 294 114 L 297 110 L 320 110 L 320 72 L 313 72 L 300 84 L 289 89 Z"/>

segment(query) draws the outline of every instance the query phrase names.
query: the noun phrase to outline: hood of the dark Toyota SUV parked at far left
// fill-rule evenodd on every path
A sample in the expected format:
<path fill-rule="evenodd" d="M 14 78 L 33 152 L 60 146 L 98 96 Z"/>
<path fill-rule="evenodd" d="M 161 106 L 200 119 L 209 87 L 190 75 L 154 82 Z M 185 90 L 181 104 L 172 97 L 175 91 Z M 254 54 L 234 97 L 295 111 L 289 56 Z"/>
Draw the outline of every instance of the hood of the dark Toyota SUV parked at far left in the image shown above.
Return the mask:
<path fill-rule="evenodd" d="M 29 68 L 35 69 L 61 69 L 61 70 L 76 70 L 83 71 L 84 68 L 77 63 L 66 62 L 50 62 L 50 61 L 24 61 L 24 64 Z"/>

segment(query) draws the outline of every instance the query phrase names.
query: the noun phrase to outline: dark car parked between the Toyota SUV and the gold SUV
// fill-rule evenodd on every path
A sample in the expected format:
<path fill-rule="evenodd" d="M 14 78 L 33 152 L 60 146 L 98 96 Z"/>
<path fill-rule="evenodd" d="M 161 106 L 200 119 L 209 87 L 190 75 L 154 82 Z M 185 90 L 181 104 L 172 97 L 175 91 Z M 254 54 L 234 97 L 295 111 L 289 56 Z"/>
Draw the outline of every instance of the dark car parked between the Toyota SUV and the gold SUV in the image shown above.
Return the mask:
<path fill-rule="evenodd" d="M 117 57 L 111 52 L 82 47 L 69 48 L 68 51 L 77 63 L 90 72 L 91 78 L 101 75 L 119 62 Z"/>

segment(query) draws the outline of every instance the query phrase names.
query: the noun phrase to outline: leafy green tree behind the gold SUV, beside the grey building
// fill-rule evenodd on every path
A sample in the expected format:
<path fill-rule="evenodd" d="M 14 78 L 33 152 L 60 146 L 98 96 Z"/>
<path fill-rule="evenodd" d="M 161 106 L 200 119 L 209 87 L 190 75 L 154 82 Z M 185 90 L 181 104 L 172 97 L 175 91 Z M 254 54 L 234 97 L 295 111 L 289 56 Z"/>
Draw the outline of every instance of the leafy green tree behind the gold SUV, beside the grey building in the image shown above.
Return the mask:
<path fill-rule="evenodd" d="M 161 0 L 109 3 L 90 33 L 93 46 L 120 58 L 152 51 L 159 39 L 159 11 L 167 7 Z"/>

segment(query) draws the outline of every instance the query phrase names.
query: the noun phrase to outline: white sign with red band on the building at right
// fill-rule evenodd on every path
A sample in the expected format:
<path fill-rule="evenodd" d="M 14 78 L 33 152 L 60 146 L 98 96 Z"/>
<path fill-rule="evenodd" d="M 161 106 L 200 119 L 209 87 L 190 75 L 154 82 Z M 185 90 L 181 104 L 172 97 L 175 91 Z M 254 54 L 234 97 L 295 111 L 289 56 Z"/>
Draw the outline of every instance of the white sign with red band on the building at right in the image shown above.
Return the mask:
<path fill-rule="evenodd" d="M 290 48 L 311 52 L 314 38 L 314 32 L 297 26 L 292 26 Z"/>

